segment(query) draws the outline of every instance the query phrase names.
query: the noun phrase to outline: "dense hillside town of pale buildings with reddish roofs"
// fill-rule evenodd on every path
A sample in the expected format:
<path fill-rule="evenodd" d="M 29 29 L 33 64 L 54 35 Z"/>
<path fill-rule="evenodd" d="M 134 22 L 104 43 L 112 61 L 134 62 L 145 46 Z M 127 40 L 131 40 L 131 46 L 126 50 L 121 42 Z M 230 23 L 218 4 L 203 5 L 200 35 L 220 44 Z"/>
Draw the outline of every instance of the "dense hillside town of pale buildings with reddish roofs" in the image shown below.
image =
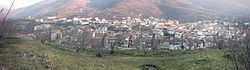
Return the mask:
<path fill-rule="evenodd" d="M 31 38 L 66 47 L 116 50 L 196 50 L 214 48 L 218 39 L 241 40 L 249 32 L 249 23 L 201 20 L 180 23 L 178 20 L 149 17 L 122 17 L 107 20 L 98 17 L 47 18 L 28 17 L 38 25 Z M 29 23 L 29 22 L 28 22 Z M 103 46 L 102 46 L 103 45 Z"/>

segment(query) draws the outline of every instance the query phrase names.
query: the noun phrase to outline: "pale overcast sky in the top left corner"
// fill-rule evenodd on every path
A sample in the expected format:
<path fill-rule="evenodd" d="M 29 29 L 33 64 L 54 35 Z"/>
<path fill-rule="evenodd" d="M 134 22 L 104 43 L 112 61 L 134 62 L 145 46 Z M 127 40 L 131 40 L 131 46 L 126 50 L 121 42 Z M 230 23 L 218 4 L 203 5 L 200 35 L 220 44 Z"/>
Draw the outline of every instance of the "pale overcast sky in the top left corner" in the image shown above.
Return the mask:
<path fill-rule="evenodd" d="M 9 7 L 13 0 L 0 0 L 0 5 Z M 13 8 L 22 8 L 35 3 L 38 3 L 43 0 L 16 0 Z"/>

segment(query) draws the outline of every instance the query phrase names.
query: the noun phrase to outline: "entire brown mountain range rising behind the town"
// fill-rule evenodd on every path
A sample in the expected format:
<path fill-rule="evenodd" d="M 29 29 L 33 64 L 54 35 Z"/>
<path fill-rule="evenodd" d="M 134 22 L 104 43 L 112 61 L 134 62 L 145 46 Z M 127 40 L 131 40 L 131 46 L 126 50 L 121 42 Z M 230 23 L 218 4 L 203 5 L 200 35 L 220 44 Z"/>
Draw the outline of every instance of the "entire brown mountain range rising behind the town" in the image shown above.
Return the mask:
<path fill-rule="evenodd" d="M 249 15 L 250 0 L 45 0 L 15 12 L 18 17 L 188 17 Z"/>

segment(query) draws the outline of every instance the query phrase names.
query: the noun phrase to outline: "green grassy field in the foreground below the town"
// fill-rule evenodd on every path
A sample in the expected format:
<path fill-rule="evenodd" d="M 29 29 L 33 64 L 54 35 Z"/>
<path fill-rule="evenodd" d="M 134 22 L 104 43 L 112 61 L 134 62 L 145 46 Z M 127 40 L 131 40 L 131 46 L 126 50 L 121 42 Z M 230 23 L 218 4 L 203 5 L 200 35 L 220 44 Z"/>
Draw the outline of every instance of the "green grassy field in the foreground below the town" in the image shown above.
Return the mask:
<path fill-rule="evenodd" d="M 0 67 L 7 70 L 49 70 L 43 61 L 36 57 L 47 54 L 53 70 L 225 70 L 230 69 L 221 51 L 205 49 L 202 51 L 143 51 L 126 50 L 96 57 L 95 50 L 76 53 L 72 48 L 18 37 L 8 37 L 0 42 Z M 1 68 L 0 68 L 1 69 Z"/>

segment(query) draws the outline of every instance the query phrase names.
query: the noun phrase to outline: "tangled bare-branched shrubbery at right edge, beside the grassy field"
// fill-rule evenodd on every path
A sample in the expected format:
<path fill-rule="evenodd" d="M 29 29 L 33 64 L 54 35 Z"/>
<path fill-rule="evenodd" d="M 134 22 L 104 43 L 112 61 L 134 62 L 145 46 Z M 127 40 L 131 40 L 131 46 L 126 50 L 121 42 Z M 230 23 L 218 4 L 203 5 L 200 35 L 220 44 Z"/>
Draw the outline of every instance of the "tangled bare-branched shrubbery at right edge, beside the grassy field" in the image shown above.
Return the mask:
<path fill-rule="evenodd" d="M 232 61 L 230 66 L 233 70 L 250 70 L 250 37 L 248 30 L 247 28 L 239 30 L 241 33 L 235 33 L 234 36 L 229 38 L 214 38 L 215 46 L 223 51 L 223 57 Z"/>

